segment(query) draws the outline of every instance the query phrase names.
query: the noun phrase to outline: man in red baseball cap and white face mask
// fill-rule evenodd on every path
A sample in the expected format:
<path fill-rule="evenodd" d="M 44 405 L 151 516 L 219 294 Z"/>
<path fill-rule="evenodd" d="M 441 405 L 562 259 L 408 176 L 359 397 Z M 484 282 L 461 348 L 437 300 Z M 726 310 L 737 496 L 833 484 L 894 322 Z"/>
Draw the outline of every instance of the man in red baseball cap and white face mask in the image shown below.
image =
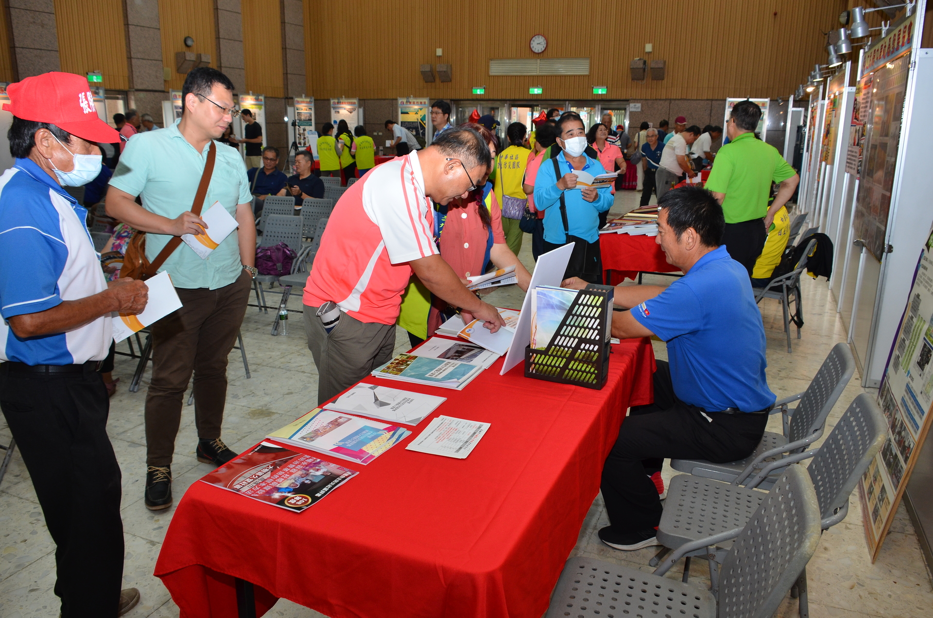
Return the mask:
<path fill-rule="evenodd" d="M 100 173 L 97 142 L 118 133 L 98 118 L 84 77 L 27 77 L 7 94 L 16 164 L 0 177 L 0 409 L 58 546 L 62 615 L 118 616 L 139 591 L 120 590 L 120 470 L 96 370 L 113 342 L 111 314 L 142 312 L 147 288 L 104 280 L 88 212 L 63 189 Z"/>

